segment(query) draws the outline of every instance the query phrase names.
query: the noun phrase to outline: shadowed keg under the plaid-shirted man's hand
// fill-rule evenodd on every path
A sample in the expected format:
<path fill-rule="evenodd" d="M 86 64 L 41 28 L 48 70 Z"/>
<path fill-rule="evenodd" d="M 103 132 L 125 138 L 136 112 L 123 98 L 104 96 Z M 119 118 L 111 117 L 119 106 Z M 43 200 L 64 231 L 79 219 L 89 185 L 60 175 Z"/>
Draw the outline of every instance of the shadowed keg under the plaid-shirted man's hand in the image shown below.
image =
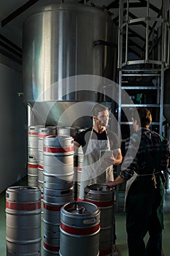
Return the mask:
<path fill-rule="evenodd" d="M 112 255 L 114 222 L 114 189 L 104 184 L 85 187 L 85 201 L 94 203 L 101 211 L 99 233 L 99 255 Z"/>

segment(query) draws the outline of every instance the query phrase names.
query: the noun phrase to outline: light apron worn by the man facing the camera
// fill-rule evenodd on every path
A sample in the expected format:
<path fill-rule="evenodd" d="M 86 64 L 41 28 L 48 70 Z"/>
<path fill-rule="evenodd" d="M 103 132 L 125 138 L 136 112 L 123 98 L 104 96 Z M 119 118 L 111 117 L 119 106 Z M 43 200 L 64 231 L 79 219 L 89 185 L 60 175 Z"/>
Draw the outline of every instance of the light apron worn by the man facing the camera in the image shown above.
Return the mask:
<path fill-rule="evenodd" d="M 107 131 L 106 131 L 107 132 Z M 82 163 L 82 176 L 80 181 L 80 199 L 84 199 L 84 189 L 90 184 L 102 184 L 106 181 L 113 181 L 112 165 L 106 167 L 100 160 L 101 150 L 110 150 L 109 138 L 107 140 L 91 139 L 93 129 L 90 134 L 90 140 L 85 152 Z"/>

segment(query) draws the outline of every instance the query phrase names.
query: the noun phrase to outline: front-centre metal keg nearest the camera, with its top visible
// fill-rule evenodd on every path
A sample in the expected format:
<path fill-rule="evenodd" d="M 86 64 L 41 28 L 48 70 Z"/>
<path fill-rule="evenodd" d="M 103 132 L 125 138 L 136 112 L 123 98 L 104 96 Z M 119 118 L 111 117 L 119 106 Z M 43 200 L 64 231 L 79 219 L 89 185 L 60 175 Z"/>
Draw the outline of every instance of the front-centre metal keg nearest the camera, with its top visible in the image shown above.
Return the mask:
<path fill-rule="evenodd" d="M 61 256 L 97 256 L 100 210 L 93 203 L 73 202 L 61 208 Z"/>

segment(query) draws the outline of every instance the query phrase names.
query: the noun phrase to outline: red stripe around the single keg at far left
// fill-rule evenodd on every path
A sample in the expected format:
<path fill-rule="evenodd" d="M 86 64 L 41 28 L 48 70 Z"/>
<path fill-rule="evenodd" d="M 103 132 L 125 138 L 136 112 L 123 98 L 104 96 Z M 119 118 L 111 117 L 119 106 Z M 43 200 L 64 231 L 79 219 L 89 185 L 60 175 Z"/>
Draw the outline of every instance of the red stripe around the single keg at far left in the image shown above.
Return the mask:
<path fill-rule="evenodd" d="M 38 203 L 13 203 L 6 202 L 6 208 L 19 211 L 34 211 L 41 208 L 41 202 Z"/>

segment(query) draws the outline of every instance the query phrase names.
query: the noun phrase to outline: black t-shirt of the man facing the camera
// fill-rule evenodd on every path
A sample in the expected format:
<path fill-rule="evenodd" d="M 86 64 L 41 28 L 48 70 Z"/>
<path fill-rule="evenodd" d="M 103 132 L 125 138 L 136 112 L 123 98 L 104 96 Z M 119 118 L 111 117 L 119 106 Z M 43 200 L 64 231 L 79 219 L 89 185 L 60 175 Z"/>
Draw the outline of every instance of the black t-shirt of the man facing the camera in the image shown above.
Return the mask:
<path fill-rule="evenodd" d="M 107 129 L 107 132 L 104 131 L 102 133 L 98 133 L 93 129 L 93 133 L 91 134 L 92 127 L 86 129 L 85 131 L 82 131 L 76 135 L 74 140 L 82 146 L 82 151 L 85 154 L 87 146 L 88 146 L 88 141 L 90 139 L 93 140 L 107 140 L 107 136 L 109 138 L 109 143 L 110 143 L 110 149 L 114 150 L 116 148 L 120 148 L 120 142 L 115 134 L 115 132 L 112 132 Z"/>

